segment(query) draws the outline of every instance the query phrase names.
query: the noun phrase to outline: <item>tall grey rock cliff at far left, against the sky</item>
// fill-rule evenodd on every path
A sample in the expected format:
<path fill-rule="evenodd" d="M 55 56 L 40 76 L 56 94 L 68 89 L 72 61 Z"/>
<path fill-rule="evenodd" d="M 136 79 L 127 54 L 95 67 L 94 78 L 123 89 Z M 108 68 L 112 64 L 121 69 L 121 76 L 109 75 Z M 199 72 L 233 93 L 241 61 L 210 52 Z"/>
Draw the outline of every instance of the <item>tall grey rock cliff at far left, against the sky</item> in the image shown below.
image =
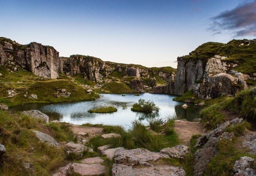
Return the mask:
<path fill-rule="evenodd" d="M 13 61 L 21 68 L 45 78 L 56 79 L 59 77 L 58 71 L 63 72 L 62 59 L 59 59 L 59 52 L 52 46 L 36 42 L 20 45 L 6 38 L 4 40 L 7 40 L 1 41 L 4 46 L 0 44 L 1 65 L 8 60 Z"/>

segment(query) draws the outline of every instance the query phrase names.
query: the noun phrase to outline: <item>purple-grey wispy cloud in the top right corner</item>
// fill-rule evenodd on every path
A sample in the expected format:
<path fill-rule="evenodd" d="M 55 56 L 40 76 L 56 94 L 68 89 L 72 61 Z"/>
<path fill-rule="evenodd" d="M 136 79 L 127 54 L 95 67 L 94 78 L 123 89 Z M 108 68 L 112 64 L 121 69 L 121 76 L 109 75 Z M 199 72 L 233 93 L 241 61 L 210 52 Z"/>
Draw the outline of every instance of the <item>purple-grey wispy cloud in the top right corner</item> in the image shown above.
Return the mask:
<path fill-rule="evenodd" d="M 210 20 L 212 24 L 208 29 L 213 34 L 228 32 L 236 37 L 256 36 L 256 0 L 239 4 L 236 8 L 224 11 Z"/>

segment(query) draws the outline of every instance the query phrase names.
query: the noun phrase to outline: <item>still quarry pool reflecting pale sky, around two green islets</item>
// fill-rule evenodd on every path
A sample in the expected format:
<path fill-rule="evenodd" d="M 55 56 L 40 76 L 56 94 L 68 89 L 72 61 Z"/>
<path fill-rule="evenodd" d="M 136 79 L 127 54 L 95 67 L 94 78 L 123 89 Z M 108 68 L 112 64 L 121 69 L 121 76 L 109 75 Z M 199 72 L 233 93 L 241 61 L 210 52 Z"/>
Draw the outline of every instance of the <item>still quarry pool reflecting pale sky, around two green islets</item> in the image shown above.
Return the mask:
<path fill-rule="evenodd" d="M 95 101 L 80 101 L 68 103 L 33 103 L 15 106 L 9 108 L 12 113 L 24 110 L 37 109 L 49 116 L 49 120 L 59 120 L 76 125 L 83 123 L 103 123 L 104 125 L 130 125 L 135 119 L 141 120 L 144 124 L 152 118 L 165 118 L 173 114 L 181 118 L 192 121 L 198 118 L 198 112 L 202 108 L 200 105 L 187 103 L 188 107 L 182 108 L 180 105 L 184 103 L 173 101 L 174 95 L 165 94 L 100 94 L 100 98 Z M 133 112 L 131 107 L 137 103 L 139 99 L 152 100 L 156 106 L 160 107 L 158 114 L 146 114 L 142 112 Z M 89 113 L 89 109 L 98 108 L 101 106 L 114 106 L 117 112 L 113 113 Z"/>

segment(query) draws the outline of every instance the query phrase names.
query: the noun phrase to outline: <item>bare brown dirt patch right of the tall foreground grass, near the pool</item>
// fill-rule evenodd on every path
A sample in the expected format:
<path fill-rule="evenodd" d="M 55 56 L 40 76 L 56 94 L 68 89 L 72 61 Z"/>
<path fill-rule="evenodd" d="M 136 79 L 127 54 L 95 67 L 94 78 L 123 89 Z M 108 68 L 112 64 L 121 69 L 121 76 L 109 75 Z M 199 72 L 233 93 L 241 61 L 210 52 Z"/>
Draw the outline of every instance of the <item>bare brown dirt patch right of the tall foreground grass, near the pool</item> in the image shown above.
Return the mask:
<path fill-rule="evenodd" d="M 203 132 L 204 127 L 202 123 L 198 122 L 176 120 L 174 129 L 185 145 L 189 145 L 189 140 L 194 134 L 206 134 L 206 132 Z"/>

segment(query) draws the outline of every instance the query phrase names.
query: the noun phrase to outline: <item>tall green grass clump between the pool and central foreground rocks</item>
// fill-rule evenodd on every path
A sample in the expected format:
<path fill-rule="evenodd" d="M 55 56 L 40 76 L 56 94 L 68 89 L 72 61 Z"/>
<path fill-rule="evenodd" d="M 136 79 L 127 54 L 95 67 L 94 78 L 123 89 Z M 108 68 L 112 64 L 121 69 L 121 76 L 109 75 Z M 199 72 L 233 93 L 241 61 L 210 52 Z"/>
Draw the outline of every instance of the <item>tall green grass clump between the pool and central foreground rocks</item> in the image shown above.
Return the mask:
<path fill-rule="evenodd" d="M 160 135 L 153 134 L 140 122 L 133 121 L 132 126 L 128 130 L 124 130 L 120 126 L 106 126 L 103 127 L 105 133 L 118 133 L 120 138 L 102 138 L 97 136 L 92 138 L 88 147 L 97 150 L 103 145 L 110 145 L 111 148 L 124 147 L 126 149 L 147 148 L 150 151 L 159 152 L 162 148 L 173 147 L 180 143 L 178 135 L 175 131 L 172 134 Z"/>

